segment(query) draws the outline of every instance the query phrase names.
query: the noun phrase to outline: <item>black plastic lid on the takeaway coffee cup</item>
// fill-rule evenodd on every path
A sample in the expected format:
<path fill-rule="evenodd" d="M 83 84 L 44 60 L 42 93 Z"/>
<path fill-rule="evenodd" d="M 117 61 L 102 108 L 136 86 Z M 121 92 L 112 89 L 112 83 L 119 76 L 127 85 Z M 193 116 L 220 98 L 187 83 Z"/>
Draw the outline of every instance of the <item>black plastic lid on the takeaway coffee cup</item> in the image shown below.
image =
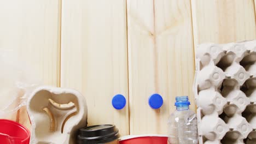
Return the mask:
<path fill-rule="evenodd" d="M 119 133 L 115 125 L 94 125 L 79 129 L 78 143 L 106 143 L 117 140 L 118 137 Z"/>

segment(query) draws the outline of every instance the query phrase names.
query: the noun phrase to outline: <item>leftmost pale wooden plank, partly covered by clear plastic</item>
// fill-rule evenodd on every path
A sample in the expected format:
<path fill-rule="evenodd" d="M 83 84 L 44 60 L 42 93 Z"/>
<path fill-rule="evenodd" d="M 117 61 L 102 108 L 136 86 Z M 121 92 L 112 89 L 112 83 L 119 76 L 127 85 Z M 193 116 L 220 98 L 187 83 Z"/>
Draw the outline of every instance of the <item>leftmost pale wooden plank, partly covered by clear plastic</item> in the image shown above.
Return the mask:
<path fill-rule="evenodd" d="M 60 82 L 60 6 L 60 0 L 0 0 L 0 50 L 18 53 L 44 85 Z M 30 127 L 25 108 L 19 116 Z"/>

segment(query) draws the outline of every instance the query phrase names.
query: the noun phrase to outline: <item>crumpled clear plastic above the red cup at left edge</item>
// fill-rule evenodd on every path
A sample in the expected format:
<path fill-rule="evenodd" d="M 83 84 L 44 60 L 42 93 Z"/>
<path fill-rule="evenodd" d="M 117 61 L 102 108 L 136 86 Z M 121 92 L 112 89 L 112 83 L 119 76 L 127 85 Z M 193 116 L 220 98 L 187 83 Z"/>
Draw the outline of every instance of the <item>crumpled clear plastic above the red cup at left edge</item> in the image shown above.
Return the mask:
<path fill-rule="evenodd" d="M 39 86 L 34 70 L 13 50 L 0 50 L 0 118 L 14 120 L 28 95 Z"/>

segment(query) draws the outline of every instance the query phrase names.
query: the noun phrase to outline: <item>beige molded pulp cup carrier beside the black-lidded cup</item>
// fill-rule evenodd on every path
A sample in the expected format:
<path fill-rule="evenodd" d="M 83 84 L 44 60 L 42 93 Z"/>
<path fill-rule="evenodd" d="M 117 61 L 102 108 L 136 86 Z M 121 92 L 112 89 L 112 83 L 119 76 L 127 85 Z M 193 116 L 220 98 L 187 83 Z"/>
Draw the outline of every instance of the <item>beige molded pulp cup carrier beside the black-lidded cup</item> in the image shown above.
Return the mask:
<path fill-rule="evenodd" d="M 28 98 L 31 144 L 77 143 L 78 129 L 87 124 L 87 105 L 74 89 L 39 87 Z"/>

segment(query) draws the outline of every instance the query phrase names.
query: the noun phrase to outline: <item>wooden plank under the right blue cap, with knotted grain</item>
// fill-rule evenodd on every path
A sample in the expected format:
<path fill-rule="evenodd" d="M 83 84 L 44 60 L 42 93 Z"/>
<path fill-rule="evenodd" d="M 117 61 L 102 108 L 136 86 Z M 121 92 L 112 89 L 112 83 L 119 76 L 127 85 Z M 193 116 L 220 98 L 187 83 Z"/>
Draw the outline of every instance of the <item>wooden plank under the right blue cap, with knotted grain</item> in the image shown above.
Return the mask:
<path fill-rule="evenodd" d="M 176 96 L 189 95 L 194 80 L 190 1 L 127 0 L 130 133 L 167 134 Z M 153 110 L 148 98 L 159 93 L 164 105 Z"/>

